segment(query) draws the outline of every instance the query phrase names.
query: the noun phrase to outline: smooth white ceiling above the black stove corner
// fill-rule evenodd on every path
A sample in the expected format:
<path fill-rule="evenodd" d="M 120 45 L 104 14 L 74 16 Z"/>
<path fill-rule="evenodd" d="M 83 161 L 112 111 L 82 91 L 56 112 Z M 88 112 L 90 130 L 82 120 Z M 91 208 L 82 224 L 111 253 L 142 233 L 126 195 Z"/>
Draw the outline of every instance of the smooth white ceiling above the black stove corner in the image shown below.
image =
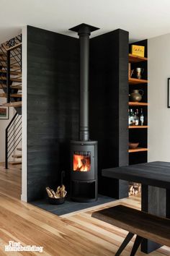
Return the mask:
<path fill-rule="evenodd" d="M 0 0 L 0 43 L 32 25 L 77 36 L 68 28 L 87 23 L 100 30 L 91 37 L 121 28 L 130 41 L 170 33 L 169 0 Z"/>

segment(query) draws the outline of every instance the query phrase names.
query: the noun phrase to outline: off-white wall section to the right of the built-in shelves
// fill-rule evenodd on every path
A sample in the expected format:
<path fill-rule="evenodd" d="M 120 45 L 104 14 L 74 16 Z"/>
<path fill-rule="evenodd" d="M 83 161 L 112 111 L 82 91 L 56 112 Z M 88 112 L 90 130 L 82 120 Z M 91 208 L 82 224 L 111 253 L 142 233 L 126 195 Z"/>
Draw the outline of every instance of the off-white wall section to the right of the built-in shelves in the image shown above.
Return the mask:
<path fill-rule="evenodd" d="M 170 34 L 148 39 L 148 161 L 170 161 Z"/>

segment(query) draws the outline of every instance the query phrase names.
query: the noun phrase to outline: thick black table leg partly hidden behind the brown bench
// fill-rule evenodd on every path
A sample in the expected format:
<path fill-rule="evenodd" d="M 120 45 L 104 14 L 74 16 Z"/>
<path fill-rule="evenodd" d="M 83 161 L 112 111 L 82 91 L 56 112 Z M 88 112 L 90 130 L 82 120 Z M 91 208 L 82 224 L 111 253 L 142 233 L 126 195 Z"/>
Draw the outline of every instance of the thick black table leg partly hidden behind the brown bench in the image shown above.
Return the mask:
<path fill-rule="evenodd" d="M 167 192 L 168 193 L 168 192 Z M 170 192 L 169 192 L 170 198 Z M 148 185 L 142 185 L 142 210 L 151 213 L 155 216 L 166 216 L 166 189 L 159 187 L 152 187 Z M 170 202 L 169 202 L 169 216 L 170 216 Z M 145 253 L 153 252 L 161 247 L 161 244 L 157 244 L 148 239 L 144 239 L 141 244 L 141 251 Z"/>

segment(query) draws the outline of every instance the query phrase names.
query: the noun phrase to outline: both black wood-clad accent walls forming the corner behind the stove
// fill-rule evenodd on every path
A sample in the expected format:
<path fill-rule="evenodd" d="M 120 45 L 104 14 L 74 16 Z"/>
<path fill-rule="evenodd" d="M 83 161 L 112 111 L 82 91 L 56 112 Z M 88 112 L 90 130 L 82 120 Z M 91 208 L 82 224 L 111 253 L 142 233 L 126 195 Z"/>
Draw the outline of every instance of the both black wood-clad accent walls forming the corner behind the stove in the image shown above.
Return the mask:
<path fill-rule="evenodd" d="M 90 39 L 89 133 L 99 142 L 99 192 L 128 196 L 102 168 L 128 165 L 128 32 Z M 70 182 L 70 140 L 79 138 L 79 39 L 27 27 L 27 198 Z"/>

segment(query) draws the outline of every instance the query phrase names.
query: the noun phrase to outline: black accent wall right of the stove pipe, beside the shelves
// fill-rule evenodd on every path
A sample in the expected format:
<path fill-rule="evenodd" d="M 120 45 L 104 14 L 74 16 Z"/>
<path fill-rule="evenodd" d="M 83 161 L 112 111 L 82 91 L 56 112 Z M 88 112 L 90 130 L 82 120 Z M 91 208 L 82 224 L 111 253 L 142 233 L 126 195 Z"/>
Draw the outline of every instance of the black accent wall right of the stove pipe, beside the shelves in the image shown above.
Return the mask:
<path fill-rule="evenodd" d="M 90 40 L 90 138 L 98 140 L 99 192 L 128 197 L 128 183 L 102 177 L 102 168 L 128 165 L 128 32 Z"/>

